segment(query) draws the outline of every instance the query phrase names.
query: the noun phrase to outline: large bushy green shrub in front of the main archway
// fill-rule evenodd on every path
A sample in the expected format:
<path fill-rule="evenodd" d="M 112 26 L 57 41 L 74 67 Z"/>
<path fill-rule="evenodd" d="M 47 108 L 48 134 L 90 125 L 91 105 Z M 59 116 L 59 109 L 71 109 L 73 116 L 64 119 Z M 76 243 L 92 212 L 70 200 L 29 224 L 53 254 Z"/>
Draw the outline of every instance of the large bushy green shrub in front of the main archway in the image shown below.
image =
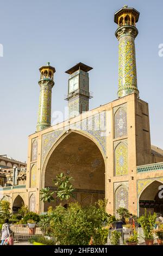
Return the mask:
<path fill-rule="evenodd" d="M 108 217 L 101 202 L 86 208 L 78 203 L 71 203 L 67 209 L 59 205 L 53 210 L 50 227 L 60 245 L 89 245 L 91 236 L 93 245 L 103 245 L 108 230 L 103 229 L 102 221 Z"/>

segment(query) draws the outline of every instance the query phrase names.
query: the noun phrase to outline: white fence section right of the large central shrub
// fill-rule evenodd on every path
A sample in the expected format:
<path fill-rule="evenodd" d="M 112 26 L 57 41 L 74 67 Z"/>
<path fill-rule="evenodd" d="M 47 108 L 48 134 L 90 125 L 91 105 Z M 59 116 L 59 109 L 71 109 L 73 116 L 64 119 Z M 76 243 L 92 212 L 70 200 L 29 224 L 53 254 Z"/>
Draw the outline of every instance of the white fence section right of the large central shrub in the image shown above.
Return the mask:
<path fill-rule="evenodd" d="M 115 230 L 121 233 L 121 237 L 118 240 L 118 245 L 126 245 L 126 240 L 131 235 L 133 235 L 134 230 L 137 231 L 138 238 L 139 238 L 139 244 L 145 242 L 145 240 L 143 239 L 143 230 L 142 230 L 142 228 L 130 229 L 129 231 L 127 231 L 125 229 L 111 229 L 111 230 L 109 230 L 109 233 L 108 233 L 108 240 L 107 240 L 106 245 L 112 245 L 112 243 L 111 243 L 112 234 L 113 234 L 112 232 L 115 231 Z"/>

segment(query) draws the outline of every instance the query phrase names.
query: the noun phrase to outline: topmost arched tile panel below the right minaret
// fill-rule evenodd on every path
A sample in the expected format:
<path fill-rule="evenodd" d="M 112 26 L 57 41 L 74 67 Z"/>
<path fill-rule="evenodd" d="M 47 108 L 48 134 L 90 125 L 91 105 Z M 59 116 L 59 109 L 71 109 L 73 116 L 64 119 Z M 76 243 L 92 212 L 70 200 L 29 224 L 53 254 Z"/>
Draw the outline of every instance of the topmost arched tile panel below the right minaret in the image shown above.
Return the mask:
<path fill-rule="evenodd" d="M 127 113 L 120 107 L 115 113 L 115 138 L 127 136 Z"/>

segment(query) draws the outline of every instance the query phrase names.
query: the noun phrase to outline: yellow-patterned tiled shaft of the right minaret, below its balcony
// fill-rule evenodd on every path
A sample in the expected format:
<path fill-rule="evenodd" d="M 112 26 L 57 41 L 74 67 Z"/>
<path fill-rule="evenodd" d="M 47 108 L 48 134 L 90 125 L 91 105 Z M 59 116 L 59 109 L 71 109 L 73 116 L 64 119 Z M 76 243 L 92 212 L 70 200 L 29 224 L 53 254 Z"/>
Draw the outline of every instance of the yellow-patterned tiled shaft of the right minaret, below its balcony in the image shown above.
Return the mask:
<path fill-rule="evenodd" d="M 118 97 L 137 93 L 137 75 L 134 36 L 123 35 L 119 39 Z"/>

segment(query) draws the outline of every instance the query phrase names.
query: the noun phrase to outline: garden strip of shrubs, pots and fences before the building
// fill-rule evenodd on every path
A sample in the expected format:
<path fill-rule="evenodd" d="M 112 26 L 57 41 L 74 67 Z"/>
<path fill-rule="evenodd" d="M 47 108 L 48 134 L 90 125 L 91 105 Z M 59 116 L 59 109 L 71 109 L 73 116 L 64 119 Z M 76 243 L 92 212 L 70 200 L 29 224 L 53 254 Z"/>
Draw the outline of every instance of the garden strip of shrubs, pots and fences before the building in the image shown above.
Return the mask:
<path fill-rule="evenodd" d="M 11 214 L 10 203 L 0 203 L 0 230 L 5 219 L 9 219 L 15 240 L 26 239 L 32 245 L 137 245 L 144 243 L 163 245 L 163 223 L 158 216 L 145 214 L 137 218 L 127 209 L 119 208 L 116 219 L 106 212 L 107 200 L 100 199 L 84 208 L 78 203 L 69 203 L 73 197 L 72 178 L 58 174 L 54 180 L 56 194 L 43 188 L 40 200 L 50 203 L 56 198 L 58 206 L 49 206 L 46 214 L 37 215 L 22 205 L 17 214 Z M 62 202 L 67 201 L 67 207 Z M 143 239 L 143 240 L 142 240 Z"/>

